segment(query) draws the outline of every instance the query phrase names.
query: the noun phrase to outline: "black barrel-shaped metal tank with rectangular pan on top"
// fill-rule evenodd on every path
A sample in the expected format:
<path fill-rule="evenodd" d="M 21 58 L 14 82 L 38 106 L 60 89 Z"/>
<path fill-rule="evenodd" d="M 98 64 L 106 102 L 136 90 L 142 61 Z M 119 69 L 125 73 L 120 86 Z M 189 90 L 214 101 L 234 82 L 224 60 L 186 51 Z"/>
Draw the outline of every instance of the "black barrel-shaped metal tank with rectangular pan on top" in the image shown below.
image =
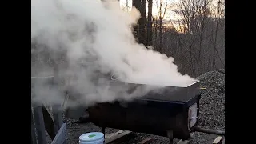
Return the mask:
<path fill-rule="evenodd" d="M 138 84 L 130 84 L 136 87 Z M 103 102 L 88 108 L 90 122 L 102 127 L 189 139 L 198 123 L 199 81 L 166 86 L 131 102 Z"/>

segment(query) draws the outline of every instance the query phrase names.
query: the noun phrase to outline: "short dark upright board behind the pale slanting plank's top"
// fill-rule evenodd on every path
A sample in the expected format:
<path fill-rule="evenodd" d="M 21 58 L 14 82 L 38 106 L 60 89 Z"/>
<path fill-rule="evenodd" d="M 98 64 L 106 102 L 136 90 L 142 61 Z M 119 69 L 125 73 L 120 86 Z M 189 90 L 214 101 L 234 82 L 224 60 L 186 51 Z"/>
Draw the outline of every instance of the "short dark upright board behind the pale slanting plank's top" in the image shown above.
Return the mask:
<path fill-rule="evenodd" d="M 61 105 L 54 105 L 52 108 L 54 115 L 54 131 L 55 134 L 57 134 L 63 123 Z"/>

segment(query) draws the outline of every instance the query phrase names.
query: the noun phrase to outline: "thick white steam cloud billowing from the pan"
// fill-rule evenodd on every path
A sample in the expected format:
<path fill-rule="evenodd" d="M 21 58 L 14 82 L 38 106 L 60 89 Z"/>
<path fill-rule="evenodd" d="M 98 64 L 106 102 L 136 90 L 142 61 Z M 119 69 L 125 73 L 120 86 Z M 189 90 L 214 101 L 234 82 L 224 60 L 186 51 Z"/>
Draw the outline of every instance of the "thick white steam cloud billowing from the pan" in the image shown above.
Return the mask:
<path fill-rule="evenodd" d="M 178 73 L 174 58 L 135 42 L 130 27 L 139 17 L 138 10 L 122 11 L 116 0 L 31 0 L 31 45 L 54 58 L 58 80 L 63 80 L 62 87 L 42 79 L 32 83 L 32 100 L 63 102 L 60 91 L 69 90 L 70 106 L 88 106 L 190 84 L 194 78 Z M 34 54 L 38 50 L 31 49 Z M 113 82 L 111 75 L 121 82 Z"/>

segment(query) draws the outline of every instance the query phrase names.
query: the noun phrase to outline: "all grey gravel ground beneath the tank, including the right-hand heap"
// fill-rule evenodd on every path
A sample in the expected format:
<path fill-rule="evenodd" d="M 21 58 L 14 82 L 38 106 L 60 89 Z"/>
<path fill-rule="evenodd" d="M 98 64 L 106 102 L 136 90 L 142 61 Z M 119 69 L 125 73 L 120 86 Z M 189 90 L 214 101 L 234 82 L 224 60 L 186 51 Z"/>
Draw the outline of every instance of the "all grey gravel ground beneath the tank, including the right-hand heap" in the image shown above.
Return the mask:
<path fill-rule="evenodd" d="M 198 125 L 202 128 L 225 130 L 225 70 L 210 71 L 206 74 L 202 74 L 198 77 L 201 81 L 201 86 L 206 88 L 201 90 L 202 98 L 200 103 L 200 116 Z M 92 123 L 81 124 L 78 121 L 66 119 L 67 124 L 67 143 L 78 144 L 78 137 L 81 134 L 100 131 L 98 126 L 94 126 Z M 118 130 L 106 128 L 106 134 L 116 132 Z M 169 143 L 167 138 L 151 135 L 133 133 L 127 138 L 127 142 L 123 144 L 135 144 L 146 138 L 153 138 L 153 144 L 167 144 Z M 216 135 L 195 133 L 192 144 L 211 144 Z M 174 139 L 178 142 L 177 139 Z M 223 142 L 225 143 L 225 142 Z"/>

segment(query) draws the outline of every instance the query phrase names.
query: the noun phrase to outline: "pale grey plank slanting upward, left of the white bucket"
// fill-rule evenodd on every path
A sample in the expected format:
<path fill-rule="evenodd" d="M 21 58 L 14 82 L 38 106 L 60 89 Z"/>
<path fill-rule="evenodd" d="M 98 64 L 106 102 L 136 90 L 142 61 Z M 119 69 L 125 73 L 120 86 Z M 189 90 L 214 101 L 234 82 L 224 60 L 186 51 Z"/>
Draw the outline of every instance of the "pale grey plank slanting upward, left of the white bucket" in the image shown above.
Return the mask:
<path fill-rule="evenodd" d="M 62 124 L 62 127 L 58 130 L 53 142 L 51 144 L 64 144 L 66 142 L 66 123 Z"/>

